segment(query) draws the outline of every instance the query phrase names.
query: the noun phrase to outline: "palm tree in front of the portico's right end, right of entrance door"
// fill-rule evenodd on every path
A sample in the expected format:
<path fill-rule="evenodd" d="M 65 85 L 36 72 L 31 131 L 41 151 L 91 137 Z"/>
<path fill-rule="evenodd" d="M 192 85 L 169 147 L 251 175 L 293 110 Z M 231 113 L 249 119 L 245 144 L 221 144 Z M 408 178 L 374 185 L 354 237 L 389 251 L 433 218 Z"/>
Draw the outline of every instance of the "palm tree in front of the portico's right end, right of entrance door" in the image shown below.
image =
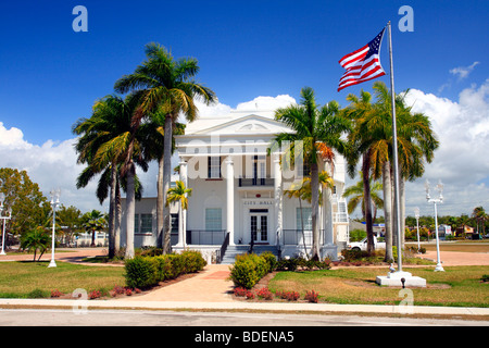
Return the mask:
<path fill-rule="evenodd" d="M 281 146 L 284 141 L 302 141 L 301 149 L 293 148 L 286 151 L 302 151 L 294 153 L 294 158 L 302 156 L 304 164 L 310 169 L 311 175 L 311 206 L 313 246 L 312 259 L 319 259 L 319 229 L 317 225 L 319 210 L 319 158 L 330 159 L 330 149 L 343 151 L 344 144 L 340 136 L 349 127 L 349 123 L 338 115 L 338 103 L 331 101 L 319 108 L 316 104 L 314 90 L 310 87 L 301 89 L 299 104 L 280 108 L 275 111 L 275 120 L 285 123 L 294 130 L 293 134 L 283 133 L 275 138 L 274 146 Z M 271 149 L 275 150 L 275 149 Z M 286 163 L 283 163 L 283 165 Z"/>

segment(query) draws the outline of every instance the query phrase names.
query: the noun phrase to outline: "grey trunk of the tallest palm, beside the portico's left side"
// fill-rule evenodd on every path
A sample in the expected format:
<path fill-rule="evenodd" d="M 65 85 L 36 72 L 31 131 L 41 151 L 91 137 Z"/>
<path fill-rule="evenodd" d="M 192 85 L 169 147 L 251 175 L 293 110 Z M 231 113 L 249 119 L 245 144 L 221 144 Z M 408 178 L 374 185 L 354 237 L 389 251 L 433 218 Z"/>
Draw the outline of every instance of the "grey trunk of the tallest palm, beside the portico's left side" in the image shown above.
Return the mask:
<path fill-rule="evenodd" d="M 163 149 L 163 192 L 164 197 L 168 195 L 170 183 L 172 181 L 172 138 L 173 138 L 173 120 L 172 114 L 165 117 L 165 138 Z M 170 215 L 170 206 L 163 206 L 163 253 L 171 252 L 171 232 L 172 220 Z"/>

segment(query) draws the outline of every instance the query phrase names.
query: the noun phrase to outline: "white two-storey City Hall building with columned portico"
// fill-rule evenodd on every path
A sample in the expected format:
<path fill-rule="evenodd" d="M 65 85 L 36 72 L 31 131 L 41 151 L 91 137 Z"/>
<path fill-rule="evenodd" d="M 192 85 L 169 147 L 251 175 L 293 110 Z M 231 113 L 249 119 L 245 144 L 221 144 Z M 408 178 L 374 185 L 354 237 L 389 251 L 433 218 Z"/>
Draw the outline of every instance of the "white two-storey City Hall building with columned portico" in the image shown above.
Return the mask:
<path fill-rule="evenodd" d="M 273 116 L 252 111 L 201 117 L 187 125 L 185 135 L 175 136 L 179 179 L 192 195 L 187 211 L 172 208 L 174 250 L 199 249 L 217 262 L 231 262 L 250 247 L 293 257 L 303 254 L 305 245 L 310 253 L 311 203 L 284 196 L 293 181 L 302 181 L 303 166 L 296 160 L 296 169 L 284 169 L 287 154 L 268 153 L 277 134 L 291 132 Z M 330 167 L 324 163 L 319 170 Z M 335 189 L 324 190 L 318 222 L 322 257 L 335 260 L 338 246 L 348 240 L 344 176 L 344 160 L 337 154 Z M 145 198 L 136 206 L 136 247 L 155 243 L 155 202 Z"/>

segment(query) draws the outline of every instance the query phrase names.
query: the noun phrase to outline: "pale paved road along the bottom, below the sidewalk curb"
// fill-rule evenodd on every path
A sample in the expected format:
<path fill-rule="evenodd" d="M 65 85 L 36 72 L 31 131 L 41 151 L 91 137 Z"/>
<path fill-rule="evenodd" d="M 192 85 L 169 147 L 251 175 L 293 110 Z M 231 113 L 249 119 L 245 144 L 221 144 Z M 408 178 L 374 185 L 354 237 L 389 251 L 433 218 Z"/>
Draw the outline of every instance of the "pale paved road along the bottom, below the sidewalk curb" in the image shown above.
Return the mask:
<path fill-rule="evenodd" d="M 0 326 L 489 326 L 487 321 L 358 315 L 2 309 Z"/>

